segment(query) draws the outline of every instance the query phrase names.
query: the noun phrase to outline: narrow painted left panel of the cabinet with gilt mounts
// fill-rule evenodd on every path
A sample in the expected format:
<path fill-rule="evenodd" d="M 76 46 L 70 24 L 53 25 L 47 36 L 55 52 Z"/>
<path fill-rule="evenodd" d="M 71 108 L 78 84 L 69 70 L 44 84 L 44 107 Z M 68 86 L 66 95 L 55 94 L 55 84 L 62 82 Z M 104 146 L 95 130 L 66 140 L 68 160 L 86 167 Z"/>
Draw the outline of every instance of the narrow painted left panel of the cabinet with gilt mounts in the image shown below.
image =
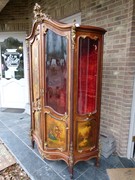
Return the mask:
<path fill-rule="evenodd" d="M 33 137 L 41 144 L 41 97 L 40 97 L 40 36 L 35 35 L 31 45 L 31 73 L 32 73 L 32 130 Z"/>

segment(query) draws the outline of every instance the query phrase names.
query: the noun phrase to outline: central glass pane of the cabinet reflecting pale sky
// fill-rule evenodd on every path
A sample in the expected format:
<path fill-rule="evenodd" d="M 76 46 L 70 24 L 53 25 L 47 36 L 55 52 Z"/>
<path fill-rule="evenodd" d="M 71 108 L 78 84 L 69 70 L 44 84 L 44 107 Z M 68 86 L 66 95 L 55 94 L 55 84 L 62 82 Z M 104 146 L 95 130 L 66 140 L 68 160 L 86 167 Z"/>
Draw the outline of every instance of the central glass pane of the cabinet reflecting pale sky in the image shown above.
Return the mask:
<path fill-rule="evenodd" d="M 51 30 L 47 31 L 45 38 L 45 104 L 64 114 L 67 95 L 67 39 Z"/>

